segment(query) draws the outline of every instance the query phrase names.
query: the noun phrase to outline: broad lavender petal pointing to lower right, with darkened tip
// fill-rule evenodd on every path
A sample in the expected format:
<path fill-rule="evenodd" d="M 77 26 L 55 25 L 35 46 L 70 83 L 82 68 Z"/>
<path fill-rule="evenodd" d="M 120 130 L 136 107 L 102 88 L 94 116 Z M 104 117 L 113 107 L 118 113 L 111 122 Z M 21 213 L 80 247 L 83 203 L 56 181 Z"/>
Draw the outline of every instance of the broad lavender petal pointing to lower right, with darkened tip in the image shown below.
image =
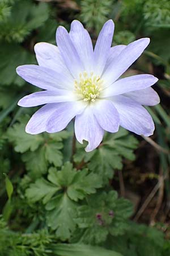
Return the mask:
<path fill-rule="evenodd" d="M 120 116 L 120 126 L 139 135 L 154 133 L 152 117 L 143 106 L 121 95 L 112 97 L 112 100 Z"/>

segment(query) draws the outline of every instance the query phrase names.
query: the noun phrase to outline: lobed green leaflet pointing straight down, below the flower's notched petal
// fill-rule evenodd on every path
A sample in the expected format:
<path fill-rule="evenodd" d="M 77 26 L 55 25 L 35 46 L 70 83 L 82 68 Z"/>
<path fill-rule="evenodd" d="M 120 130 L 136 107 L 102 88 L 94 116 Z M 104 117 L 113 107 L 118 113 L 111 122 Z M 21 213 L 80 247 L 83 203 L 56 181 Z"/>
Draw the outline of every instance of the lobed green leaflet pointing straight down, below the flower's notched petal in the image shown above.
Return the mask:
<path fill-rule="evenodd" d="M 70 238 L 75 230 L 76 204 L 69 199 L 66 193 L 54 197 L 46 204 L 48 226 L 56 230 L 56 236 L 62 241 Z"/>

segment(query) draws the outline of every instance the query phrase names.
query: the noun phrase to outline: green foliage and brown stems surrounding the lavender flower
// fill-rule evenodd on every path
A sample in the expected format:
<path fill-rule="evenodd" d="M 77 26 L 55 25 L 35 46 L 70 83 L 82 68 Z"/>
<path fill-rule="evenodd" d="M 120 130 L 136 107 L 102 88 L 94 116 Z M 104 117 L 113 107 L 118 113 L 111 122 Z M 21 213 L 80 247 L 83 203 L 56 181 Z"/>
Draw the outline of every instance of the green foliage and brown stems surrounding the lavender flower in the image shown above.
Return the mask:
<path fill-rule="evenodd" d="M 159 78 L 162 102 L 147 108 L 152 138 L 120 129 L 86 153 L 73 122 L 57 134 L 25 133 L 36 108 L 17 102 L 36 88 L 15 68 L 36 64 L 35 43 L 55 44 L 57 26 L 73 19 L 94 43 L 107 19 L 116 23 L 113 45 L 151 38 L 126 75 Z M 0 31 L 0 255 L 170 255 L 169 0 L 1 0 Z"/>

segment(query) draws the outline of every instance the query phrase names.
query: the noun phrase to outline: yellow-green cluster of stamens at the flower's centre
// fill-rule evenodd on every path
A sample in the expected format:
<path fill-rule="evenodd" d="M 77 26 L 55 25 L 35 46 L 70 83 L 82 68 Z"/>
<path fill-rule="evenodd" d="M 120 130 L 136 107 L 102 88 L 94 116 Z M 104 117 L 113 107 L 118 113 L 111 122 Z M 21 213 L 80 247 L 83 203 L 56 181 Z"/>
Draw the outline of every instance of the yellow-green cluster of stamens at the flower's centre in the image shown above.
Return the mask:
<path fill-rule="evenodd" d="M 84 101 L 94 102 L 99 97 L 102 90 L 103 80 L 94 75 L 93 72 L 88 75 L 86 71 L 79 74 L 79 80 L 74 81 L 76 94 Z"/>

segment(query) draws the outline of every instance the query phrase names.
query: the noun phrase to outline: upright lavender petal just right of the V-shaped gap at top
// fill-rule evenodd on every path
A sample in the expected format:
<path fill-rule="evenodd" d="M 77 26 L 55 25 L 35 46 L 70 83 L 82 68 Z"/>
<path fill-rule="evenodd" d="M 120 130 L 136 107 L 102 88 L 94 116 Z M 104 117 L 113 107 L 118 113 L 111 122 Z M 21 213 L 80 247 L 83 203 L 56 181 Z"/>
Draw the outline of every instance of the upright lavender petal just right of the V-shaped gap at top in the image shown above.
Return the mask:
<path fill-rule="evenodd" d="M 113 20 L 108 20 L 100 31 L 95 46 L 95 74 L 100 76 L 107 62 L 114 32 Z"/>

